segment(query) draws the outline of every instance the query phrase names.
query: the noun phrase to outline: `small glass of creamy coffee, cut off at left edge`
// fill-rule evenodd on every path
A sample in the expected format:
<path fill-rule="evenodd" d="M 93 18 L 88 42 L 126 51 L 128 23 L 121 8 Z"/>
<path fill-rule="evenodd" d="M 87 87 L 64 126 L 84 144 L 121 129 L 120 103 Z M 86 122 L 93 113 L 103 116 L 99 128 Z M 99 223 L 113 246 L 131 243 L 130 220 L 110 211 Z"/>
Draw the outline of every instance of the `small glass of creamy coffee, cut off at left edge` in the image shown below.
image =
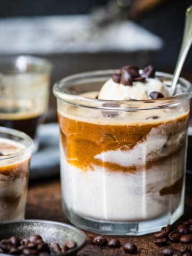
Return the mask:
<path fill-rule="evenodd" d="M 0 126 L 0 221 L 25 217 L 33 140 Z"/>

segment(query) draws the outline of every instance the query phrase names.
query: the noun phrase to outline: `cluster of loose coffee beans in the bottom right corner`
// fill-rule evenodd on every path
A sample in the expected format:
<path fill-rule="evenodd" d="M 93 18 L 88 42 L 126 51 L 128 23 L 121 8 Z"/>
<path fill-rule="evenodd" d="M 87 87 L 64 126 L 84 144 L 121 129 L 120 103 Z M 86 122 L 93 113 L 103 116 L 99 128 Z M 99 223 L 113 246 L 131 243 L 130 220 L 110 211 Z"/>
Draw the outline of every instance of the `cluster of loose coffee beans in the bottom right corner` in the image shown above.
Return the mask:
<path fill-rule="evenodd" d="M 157 246 L 166 246 L 169 243 L 182 245 L 177 246 L 178 249 L 172 247 L 164 247 L 161 254 L 167 256 L 192 256 L 192 219 L 182 221 L 177 227 L 167 225 L 160 232 L 154 234 L 154 243 Z"/>

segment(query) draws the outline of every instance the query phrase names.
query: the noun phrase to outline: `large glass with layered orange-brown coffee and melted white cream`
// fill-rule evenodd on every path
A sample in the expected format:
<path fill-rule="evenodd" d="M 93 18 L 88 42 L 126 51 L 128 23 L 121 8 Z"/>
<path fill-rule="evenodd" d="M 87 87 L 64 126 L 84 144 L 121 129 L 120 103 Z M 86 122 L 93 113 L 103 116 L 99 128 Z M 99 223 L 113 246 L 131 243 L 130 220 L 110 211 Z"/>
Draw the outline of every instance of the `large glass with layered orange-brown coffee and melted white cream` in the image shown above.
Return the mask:
<path fill-rule="evenodd" d="M 54 85 L 62 206 L 77 227 L 143 235 L 183 214 L 192 90 L 180 78 L 174 97 L 98 100 L 101 86 L 118 71 L 72 75 Z M 156 77 L 171 85 L 172 75 Z"/>

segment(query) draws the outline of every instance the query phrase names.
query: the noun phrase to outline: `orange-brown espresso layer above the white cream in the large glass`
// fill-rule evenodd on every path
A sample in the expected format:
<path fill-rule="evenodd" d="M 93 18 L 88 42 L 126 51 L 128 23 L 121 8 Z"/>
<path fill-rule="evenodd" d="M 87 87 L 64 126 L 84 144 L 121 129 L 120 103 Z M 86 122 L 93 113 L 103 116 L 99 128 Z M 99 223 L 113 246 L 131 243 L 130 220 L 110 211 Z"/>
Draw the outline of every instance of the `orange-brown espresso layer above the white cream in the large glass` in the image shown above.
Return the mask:
<path fill-rule="evenodd" d="M 149 152 L 145 159 L 145 169 L 159 161 L 164 161 L 170 155 L 177 154 L 185 147 L 185 135 L 180 138 L 180 144 L 172 145 L 176 134 L 186 131 L 188 125 L 188 114 L 182 115 L 167 122 L 150 122 L 126 125 L 102 125 L 81 122 L 76 119 L 67 118 L 59 115 L 61 127 L 62 146 L 66 154 L 68 163 L 78 167 L 83 171 L 94 170 L 94 165 L 105 167 L 108 171 L 135 172 L 140 170 L 138 162 L 123 166 L 98 156 L 107 151 L 122 152 L 134 150 L 140 143 L 145 143 L 151 130 L 164 130 L 163 136 L 166 137 L 165 144 L 161 151 L 157 153 Z M 176 138 L 175 138 L 176 139 Z M 152 144 L 153 141 L 150 141 Z M 75 156 L 75 157 L 74 157 Z M 143 163 L 142 163 L 143 165 Z"/>

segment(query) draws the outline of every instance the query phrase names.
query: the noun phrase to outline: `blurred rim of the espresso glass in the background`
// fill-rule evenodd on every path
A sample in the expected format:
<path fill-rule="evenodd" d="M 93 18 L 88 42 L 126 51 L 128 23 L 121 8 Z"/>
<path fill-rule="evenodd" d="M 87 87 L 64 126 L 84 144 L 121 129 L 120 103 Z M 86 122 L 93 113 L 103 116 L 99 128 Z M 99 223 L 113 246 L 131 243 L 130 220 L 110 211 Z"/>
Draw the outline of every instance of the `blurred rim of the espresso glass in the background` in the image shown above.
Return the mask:
<path fill-rule="evenodd" d="M 29 54 L 17 54 L 17 55 L 1 55 L 0 57 L 0 66 L 4 65 L 5 63 L 7 65 L 12 65 L 13 63 L 16 63 L 17 60 L 25 60 L 25 68 L 28 65 L 34 65 L 34 66 L 38 66 L 38 70 L 31 70 L 31 71 L 27 71 L 26 69 L 22 70 L 17 70 L 16 68 L 12 67 L 12 72 L 11 71 L 4 71 L 1 70 L 0 68 L 0 76 L 5 76 L 5 75 L 14 75 L 14 74 L 19 74 L 19 75 L 23 75 L 23 74 L 31 74 L 31 73 L 37 73 L 37 74 L 42 74 L 42 73 L 49 73 L 52 68 L 53 68 L 53 64 L 50 60 L 47 60 L 45 58 L 41 58 L 35 55 L 29 55 Z"/>

